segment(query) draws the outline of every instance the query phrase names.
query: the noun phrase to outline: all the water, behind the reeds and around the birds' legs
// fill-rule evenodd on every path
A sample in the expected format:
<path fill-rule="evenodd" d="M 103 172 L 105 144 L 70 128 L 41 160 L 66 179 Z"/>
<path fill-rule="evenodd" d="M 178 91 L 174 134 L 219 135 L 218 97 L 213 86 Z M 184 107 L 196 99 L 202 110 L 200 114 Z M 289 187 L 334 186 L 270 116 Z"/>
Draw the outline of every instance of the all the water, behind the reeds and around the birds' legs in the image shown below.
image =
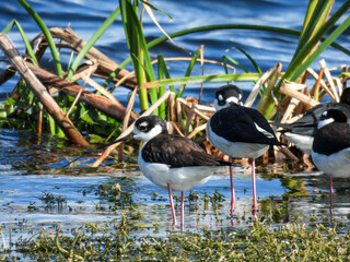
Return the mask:
<path fill-rule="evenodd" d="M 31 7 L 39 13 L 48 27 L 70 26 L 81 38 L 88 40 L 104 20 L 116 9 L 117 1 L 103 0 L 57 0 L 57 1 L 28 1 Z M 337 1 L 337 9 L 343 1 Z M 307 1 L 152 1 L 160 10 L 171 14 L 173 22 L 165 15 L 156 13 L 156 19 L 167 33 L 200 26 L 206 24 L 247 23 L 278 25 L 300 29 Z M 4 1 L 0 10 L 0 28 L 2 29 L 12 19 L 16 19 L 28 39 L 34 38 L 39 29 L 16 1 Z M 144 16 L 144 34 L 148 39 L 160 37 L 162 34 L 148 15 Z M 15 46 L 23 53 L 24 44 L 15 28 L 9 34 Z M 189 51 L 196 51 L 205 45 L 207 59 L 220 60 L 223 55 L 229 55 L 242 64 L 254 71 L 247 59 L 238 51 L 228 49 L 238 46 L 247 51 L 259 64 L 262 71 L 282 62 L 285 69 L 298 38 L 289 35 L 278 35 L 268 32 L 252 31 L 215 31 L 194 35 L 186 35 L 174 39 L 176 45 Z M 346 48 L 350 48 L 349 31 L 337 40 Z M 128 57 L 122 25 L 118 20 L 97 41 L 96 48 L 116 62 L 121 62 Z M 164 43 L 151 49 L 152 58 L 158 53 L 164 57 L 184 57 L 186 53 L 180 48 Z M 2 56 L 2 55 L 1 55 Z M 70 52 L 62 51 L 63 57 Z M 3 58 L 3 57 L 2 57 Z M 327 64 L 337 67 L 348 63 L 348 57 L 329 48 L 318 60 L 325 58 Z M 7 63 L 0 62 L 0 72 Z M 46 64 L 50 67 L 50 64 Z M 63 64 L 65 67 L 65 64 Z M 67 67 L 67 64 L 66 64 Z M 172 62 L 168 64 L 173 78 L 183 76 L 187 62 Z M 318 70 L 315 62 L 313 68 Z M 128 67 L 131 70 L 130 66 Z M 194 74 L 200 74 L 200 68 Z M 241 72 L 240 70 L 237 72 Z M 218 66 L 206 66 L 206 74 L 222 74 L 223 69 Z M 4 99 L 11 93 L 18 79 L 7 82 L 1 86 L 0 97 Z M 248 92 L 253 83 L 240 83 Z M 211 103 L 214 88 L 218 84 L 206 84 L 202 102 Z M 127 90 L 120 87 L 116 95 L 126 94 Z M 198 97 L 199 85 L 189 85 L 185 96 Z M 119 96 L 120 97 L 120 96 Z M 125 97 L 125 96 L 124 96 Z M 126 98 L 121 98 L 126 106 Z M 63 147 L 58 148 L 58 144 Z M 37 144 L 35 134 L 24 131 L 0 131 L 0 222 L 4 226 L 5 239 L 9 240 L 9 222 L 15 224 L 21 221 L 31 223 L 34 228 L 52 227 L 61 224 L 68 228 L 86 222 L 108 222 L 120 218 L 120 214 L 128 213 L 130 206 L 108 202 L 98 193 L 101 184 L 120 184 L 122 192 L 129 192 L 132 205 L 139 212 L 138 216 L 130 215 L 133 225 L 143 228 L 143 234 L 153 233 L 154 225 L 161 227 L 160 235 L 171 230 L 171 214 L 168 209 L 167 192 L 147 180 L 136 167 L 127 169 L 112 168 L 114 163 L 109 159 L 100 169 L 73 168 L 60 170 L 59 168 L 72 160 L 80 152 L 79 148 L 66 144 L 65 141 L 44 139 Z M 86 167 L 94 159 L 91 156 L 81 159 L 79 167 Z M 249 216 L 252 204 L 252 180 L 248 165 L 236 168 L 235 188 L 237 195 L 237 217 Z M 336 180 L 336 195 L 332 199 L 334 218 L 348 222 L 349 210 L 349 182 Z M 310 223 L 312 216 L 318 219 L 329 214 L 328 177 L 314 169 L 291 166 L 283 170 L 280 164 L 269 164 L 258 169 L 257 194 L 259 196 L 260 214 L 268 216 L 273 209 L 280 209 L 283 199 L 288 198 L 288 214 L 293 219 Z M 199 200 L 187 202 L 185 206 L 185 227 L 190 230 L 200 230 L 205 226 L 212 228 L 228 228 L 230 188 L 228 171 L 214 175 L 208 183 L 194 189 L 200 196 Z M 205 201 L 206 194 L 213 195 L 220 192 L 224 201 L 219 204 Z M 43 201 L 46 193 L 54 198 L 63 196 L 66 202 L 48 205 Z M 158 195 L 154 196 L 154 193 Z M 112 207 L 110 207 L 112 206 Z M 133 217 L 133 218 L 132 218 Z M 248 225 L 249 219 L 240 225 Z M 18 238 L 26 236 L 26 231 L 19 231 L 12 236 Z"/>

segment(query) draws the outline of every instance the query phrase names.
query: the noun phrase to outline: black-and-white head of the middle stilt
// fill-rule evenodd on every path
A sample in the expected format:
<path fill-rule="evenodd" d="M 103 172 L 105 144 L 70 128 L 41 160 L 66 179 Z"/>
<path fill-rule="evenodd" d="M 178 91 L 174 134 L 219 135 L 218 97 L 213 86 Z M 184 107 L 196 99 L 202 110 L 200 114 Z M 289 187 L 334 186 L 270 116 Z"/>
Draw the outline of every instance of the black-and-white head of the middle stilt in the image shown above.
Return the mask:
<path fill-rule="evenodd" d="M 231 105 L 242 105 L 243 92 L 236 85 L 223 85 L 215 92 L 214 106 L 220 110 Z"/>

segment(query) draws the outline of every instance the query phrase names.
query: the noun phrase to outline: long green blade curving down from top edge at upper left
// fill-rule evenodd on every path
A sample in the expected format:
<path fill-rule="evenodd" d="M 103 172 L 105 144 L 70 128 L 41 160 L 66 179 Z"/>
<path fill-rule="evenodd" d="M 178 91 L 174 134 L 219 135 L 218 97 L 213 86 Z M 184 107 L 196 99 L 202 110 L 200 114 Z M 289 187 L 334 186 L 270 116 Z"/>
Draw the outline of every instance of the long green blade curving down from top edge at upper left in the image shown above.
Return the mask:
<path fill-rule="evenodd" d="M 31 8 L 30 4 L 27 4 L 27 2 L 25 0 L 18 0 L 18 2 L 26 10 L 26 12 L 34 19 L 34 21 L 36 22 L 36 24 L 40 27 L 47 44 L 50 48 L 51 55 L 52 55 L 52 59 L 54 59 L 54 63 L 56 67 L 56 72 L 57 75 L 59 78 L 62 78 L 62 67 L 61 63 L 59 61 L 59 56 L 58 52 L 56 50 L 56 45 L 54 43 L 52 36 L 49 32 L 49 29 L 47 28 L 47 26 L 45 25 L 45 23 L 43 22 L 43 20 L 40 19 L 40 16 Z"/>

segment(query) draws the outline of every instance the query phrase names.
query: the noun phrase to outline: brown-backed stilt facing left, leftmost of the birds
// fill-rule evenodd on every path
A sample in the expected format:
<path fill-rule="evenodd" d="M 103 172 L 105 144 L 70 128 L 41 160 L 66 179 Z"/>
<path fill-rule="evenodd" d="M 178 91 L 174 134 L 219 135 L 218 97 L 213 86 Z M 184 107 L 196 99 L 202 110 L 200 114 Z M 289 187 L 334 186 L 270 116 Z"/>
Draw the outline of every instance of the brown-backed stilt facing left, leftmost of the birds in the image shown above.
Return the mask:
<path fill-rule="evenodd" d="M 207 182 L 220 166 L 230 166 L 207 154 L 191 140 L 168 134 L 165 122 L 158 116 L 141 117 L 135 122 L 133 132 L 114 143 L 135 138 L 143 142 L 138 164 L 143 175 L 156 186 L 167 189 L 173 225 L 176 216 L 172 190 L 182 192 L 180 224 L 184 229 L 184 192 Z"/>

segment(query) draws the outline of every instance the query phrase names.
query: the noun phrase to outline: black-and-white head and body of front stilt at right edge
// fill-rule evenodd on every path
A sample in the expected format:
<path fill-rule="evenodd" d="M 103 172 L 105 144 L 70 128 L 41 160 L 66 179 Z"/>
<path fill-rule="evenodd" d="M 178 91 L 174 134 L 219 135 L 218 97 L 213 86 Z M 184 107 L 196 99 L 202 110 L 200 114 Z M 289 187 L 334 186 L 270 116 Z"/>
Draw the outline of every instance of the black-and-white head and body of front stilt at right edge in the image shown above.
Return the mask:
<path fill-rule="evenodd" d="M 314 135 L 312 158 L 331 177 L 350 177 L 350 123 L 343 111 L 329 109 L 322 115 Z"/>

